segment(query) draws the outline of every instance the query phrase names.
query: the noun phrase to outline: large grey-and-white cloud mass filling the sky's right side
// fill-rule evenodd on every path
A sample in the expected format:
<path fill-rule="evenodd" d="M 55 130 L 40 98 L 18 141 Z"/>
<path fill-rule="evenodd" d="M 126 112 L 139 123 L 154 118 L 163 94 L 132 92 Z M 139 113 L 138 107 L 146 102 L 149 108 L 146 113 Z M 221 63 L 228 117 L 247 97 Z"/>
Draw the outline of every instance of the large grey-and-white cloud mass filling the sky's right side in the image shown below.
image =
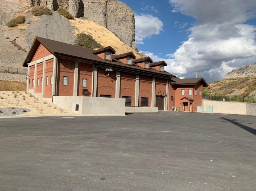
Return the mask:
<path fill-rule="evenodd" d="M 255 17 L 255 0 L 169 2 L 172 12 L 196 19 L 188 40 L 167 55 L 169 72 L 186 77 L 197 72 L 215 81 L 234 68 L 256 62 L 256 27 L 245 23 Z"/>

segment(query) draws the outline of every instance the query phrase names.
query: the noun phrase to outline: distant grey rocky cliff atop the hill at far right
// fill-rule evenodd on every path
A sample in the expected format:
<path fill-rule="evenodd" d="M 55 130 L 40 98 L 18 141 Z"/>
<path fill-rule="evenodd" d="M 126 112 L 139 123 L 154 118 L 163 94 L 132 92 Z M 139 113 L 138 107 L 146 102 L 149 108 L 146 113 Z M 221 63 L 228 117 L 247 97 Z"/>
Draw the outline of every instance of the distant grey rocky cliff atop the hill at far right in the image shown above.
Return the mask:
<path fill-rule="evenodd" d="M 242 68 L 238 68 L 228 72 L 223 80 L 236 78 L 236 77 L 249 77 L 249 76 L 256 76 L 256 63 L 253 65 L 247 65 Z"/>

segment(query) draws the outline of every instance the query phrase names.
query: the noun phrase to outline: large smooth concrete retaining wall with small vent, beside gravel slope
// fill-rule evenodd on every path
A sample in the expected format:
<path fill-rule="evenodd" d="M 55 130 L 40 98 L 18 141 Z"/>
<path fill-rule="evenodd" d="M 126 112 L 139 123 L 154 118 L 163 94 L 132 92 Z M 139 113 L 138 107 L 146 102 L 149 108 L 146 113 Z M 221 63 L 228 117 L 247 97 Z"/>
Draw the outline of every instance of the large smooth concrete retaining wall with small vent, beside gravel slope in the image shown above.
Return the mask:
<path fill-rule="evenodd" d="M 54 96 L 53 103 L 66 110 L 87 115 L 125 115 L 125 99 Z M 75 111 L 76 104 L 79 111 Z"/>

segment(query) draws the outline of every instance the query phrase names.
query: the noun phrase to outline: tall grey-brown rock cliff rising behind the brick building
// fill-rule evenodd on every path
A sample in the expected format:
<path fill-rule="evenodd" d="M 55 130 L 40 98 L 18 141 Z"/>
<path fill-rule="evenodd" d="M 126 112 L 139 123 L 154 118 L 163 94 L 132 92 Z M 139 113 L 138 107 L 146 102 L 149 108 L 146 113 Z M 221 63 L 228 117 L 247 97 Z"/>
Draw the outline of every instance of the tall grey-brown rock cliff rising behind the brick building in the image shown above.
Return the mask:
<path fill-rule="evenodd" d="M 117 0 L 27 0 L 32 6 L 52 10 L 67 9 L 74 17 L 84 17 L 108 28 L 128 46 L 137 50 L 133 10 Z"/>

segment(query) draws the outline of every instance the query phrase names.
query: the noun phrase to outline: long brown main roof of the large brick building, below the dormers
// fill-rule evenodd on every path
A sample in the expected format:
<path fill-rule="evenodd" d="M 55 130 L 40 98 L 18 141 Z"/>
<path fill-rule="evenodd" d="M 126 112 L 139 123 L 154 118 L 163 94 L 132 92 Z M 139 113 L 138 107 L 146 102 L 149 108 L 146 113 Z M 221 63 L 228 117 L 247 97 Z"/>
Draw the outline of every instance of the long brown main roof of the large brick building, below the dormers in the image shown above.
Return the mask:
<path fill-rule="evenodd" d="M 154 68 L 150 69 L 145 69 L 142 68 L 136 64 L 131 65 L 126 65 L 116 59 L 113 59 L 113 61 L 106 61 L 99 56 L 93 54 L 91 49 L 88 48 L 83 48 L 80 46 L 72 45 L 72 44 L 67 44 L 67 43 L 62 43 L 59 41 L 55 40 L 50 40 L 50 39 L 45 39 L 42 37 L 36 37 L 35 41 L 32 45 L 32 47 L 29 50 L 29 53 L 23 63 L 23 66 L 27 67 L 28 63 L 31 61 L 35 51 L 37 50 L 38 46 L 40 43 L 47 49 L 51 54 L 57 54 L 57 55 L 64 55 L 64 56 L 69 56 L 77 59 L 84 59 L 87 61 L 92 61 L 96 62 L 99 64 L 103 64 L 106 66 L 111 66 L 111 67 L 117 67 L 117 68 L 125 68 L 130 71 L 140 71 L 144 72 L 144 74 L 154 74 L 154 75 L 159 75 L 159 77 L 175 77 L 174 75 L 170 74 L 169 72 L 160 72 L 155 70 Z"/>

